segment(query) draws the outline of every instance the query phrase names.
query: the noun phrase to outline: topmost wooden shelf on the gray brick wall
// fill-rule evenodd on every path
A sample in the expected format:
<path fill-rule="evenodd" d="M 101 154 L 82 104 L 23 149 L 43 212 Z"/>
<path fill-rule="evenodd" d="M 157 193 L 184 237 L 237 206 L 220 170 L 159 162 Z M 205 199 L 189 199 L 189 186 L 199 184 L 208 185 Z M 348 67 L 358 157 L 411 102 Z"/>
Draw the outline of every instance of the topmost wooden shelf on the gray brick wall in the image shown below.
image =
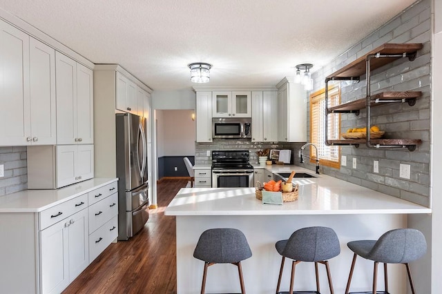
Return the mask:
<path fill-rule="evenodd" d="M 367 54 L 359 57 L 352 63 L 347 64 L 347 66 L 340 68 L 336 72 L 332 73 L 332 75 L 327 76 L 327 79 L 332 79 L 333 77 L 361 77 L 361 75 L 365 75 L 365 57 L 367 55 L 376 53 L 380 53 L 381 55 L 398 55 L 403 53 L 412 55 L 417 50 L 420 50 L 422 47 L 423 45 L 421 43 L 385 43 L 382 46 L 379 46 L 378 48 L 367 52 Z M 399 58 L 401 57 L 374 58 L 370 61 L 370 69 L 376 70 L 376 68 L 381 68 L 382 66 L 385 66 L 385 64 Z"/>

